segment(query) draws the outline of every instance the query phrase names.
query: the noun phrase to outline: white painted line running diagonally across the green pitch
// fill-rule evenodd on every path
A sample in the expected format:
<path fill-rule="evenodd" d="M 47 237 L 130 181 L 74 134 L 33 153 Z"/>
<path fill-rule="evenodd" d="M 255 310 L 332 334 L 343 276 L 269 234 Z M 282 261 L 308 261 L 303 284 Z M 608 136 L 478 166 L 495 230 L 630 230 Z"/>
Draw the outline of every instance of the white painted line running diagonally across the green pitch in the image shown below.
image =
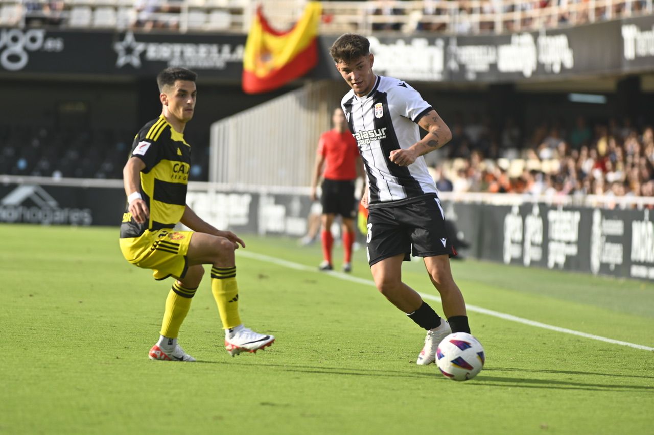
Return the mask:
<path fill-rule="evenodd" d="M 340 280 L 351 281 L 358 284 L 371 285 L 375 287 L 375 283 L 371 280 L 364 280 L 363 278 L 357 278 L 356 276 L 350 276 L 342 272 L 336 272 L 330 270 L 329 272 L 320 272 L 315 267 L 300 265 L 299 263 L 293 263 L 292 261 L 286 261 L 283 259 L 269 257 L 268 255 L 252 252 L 252 251 L 238 251 L 238 255 L 243 255 L 243 257 L 248 257 L 251 259 L 256 259 L 260 261 L 266 261 L 267 263 L 273 263 L 275 265 L 284 266 L 296 270 L 303 270 L 305 272 L 315 272 L 323 275 L 333 276 L 334 278 L 339 278 Z M 441 298 L 434 295 L 429 295 L 428 293 L 420 293 L 420 295 L 425 299 L 436 300 L 441 302 Z M 509 320 L 517 323 L 523 323 L 524 325 L 530 325 L 538 328 L 555 330 L 557 332 L 563 332 L 564 334 L 572 334 L 580 337 L 591 338 L 592 340 L 598 340 L 600 342 L 619 344 L 620 346 L 634 347 L 634 349 L 643 349 L 646 351 L 654 351 L 654 347 L 642 346 L 641 344 L 634 344 L 629 342 L 621 342 L 620 340 L 613 340 L 612 338 L 606 338 L 599 335 L 587 334 L 586 332 L 581 332 L 574 329 L 561 328 L 553 325 L 547 325 L 547 323 L 541 323 L 534 320 L 524 319 L 523 317 L 517 317 L 516 315 L 504 314 L 498 311 L 487 310 L 486 308 L 481 308 L 480 306 L 468 305 L 466 304 L 466 309 L 475 313 L 481 313 L 486 315 L 492 315 L 493 317 L 499 317 L 500 319 Z"/>

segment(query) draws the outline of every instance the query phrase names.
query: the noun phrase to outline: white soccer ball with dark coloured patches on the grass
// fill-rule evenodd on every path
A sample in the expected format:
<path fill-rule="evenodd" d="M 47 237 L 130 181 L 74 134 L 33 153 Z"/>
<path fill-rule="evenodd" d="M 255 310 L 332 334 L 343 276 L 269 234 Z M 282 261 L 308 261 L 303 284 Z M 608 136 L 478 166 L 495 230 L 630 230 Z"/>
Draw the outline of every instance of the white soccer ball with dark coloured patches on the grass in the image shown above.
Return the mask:
<path fill-rule="evenodd" d="M 443 338 L 436 350 L 436 365 L 445 378 L 467 381 L 484 366 L 484 348 L 467 332 L 455 332 Z"/>

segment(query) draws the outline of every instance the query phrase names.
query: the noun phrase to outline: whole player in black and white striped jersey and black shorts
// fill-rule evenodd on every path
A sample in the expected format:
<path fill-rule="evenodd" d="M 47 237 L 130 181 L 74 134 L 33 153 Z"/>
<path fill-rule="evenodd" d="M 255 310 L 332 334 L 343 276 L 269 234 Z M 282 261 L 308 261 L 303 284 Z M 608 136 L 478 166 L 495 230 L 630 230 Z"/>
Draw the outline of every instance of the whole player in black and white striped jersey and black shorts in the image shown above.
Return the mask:
<path fill-rule="evenodd" d="M 450 269 L 449 257 L 456 251 L 422 157 L 445 145 L 452 134 L 436 110 L 406 82 L 373 73 L 375 57 L 365 37 L 341 35 L 330 54 L 351 88 L 341 106 L 366 167 L 368 189 L 361 202 L 369 210 L 370 270 L 377 289 L 427 330 L 416 362 L 431 364 L 447 334 L 470 332 L 466 304 Z M 422 139 L 419 127 L 427 132 Z M 402 261 L 409 260 L 411 251 L 424 257 L 447 320 L 402 282 Z"/>

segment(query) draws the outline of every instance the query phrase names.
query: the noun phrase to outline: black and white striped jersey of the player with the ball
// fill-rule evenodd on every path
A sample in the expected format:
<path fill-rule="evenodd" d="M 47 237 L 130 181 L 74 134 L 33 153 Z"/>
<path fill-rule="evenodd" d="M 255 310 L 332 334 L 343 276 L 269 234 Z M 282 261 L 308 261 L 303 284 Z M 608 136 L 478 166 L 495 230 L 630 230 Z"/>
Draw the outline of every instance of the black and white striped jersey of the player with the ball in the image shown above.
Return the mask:
<path fill-rule="evenodd" d="M 351 89 L 341 106 L 366 166 L 371 208 L 437 196 L 422 156 L 408 167 L 389 159 L 392 150 L 409 148 L 420 140 L 417 122 L 432 106 L 418 91 L 402 80 L 377 76 L 368 95 L 357 97 Z"/>

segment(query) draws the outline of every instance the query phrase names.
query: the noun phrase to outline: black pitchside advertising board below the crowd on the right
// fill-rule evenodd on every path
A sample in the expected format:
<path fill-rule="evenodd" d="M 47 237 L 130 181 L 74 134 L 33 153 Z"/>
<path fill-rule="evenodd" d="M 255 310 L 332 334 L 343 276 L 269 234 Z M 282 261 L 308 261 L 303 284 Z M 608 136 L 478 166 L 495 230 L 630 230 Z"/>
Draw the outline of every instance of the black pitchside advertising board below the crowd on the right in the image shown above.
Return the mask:
<path fill-rule="evenodd" d="M 445 210 L 449 207 L 457 216 L 471 212 L 470 204 L 445 202 Z M 650 210 L 545 204 L 477 207 L 479 221 L 456 222 L 458 231 L 472 243 L 473 257 L 508 265 L 654 279 Z"/>

